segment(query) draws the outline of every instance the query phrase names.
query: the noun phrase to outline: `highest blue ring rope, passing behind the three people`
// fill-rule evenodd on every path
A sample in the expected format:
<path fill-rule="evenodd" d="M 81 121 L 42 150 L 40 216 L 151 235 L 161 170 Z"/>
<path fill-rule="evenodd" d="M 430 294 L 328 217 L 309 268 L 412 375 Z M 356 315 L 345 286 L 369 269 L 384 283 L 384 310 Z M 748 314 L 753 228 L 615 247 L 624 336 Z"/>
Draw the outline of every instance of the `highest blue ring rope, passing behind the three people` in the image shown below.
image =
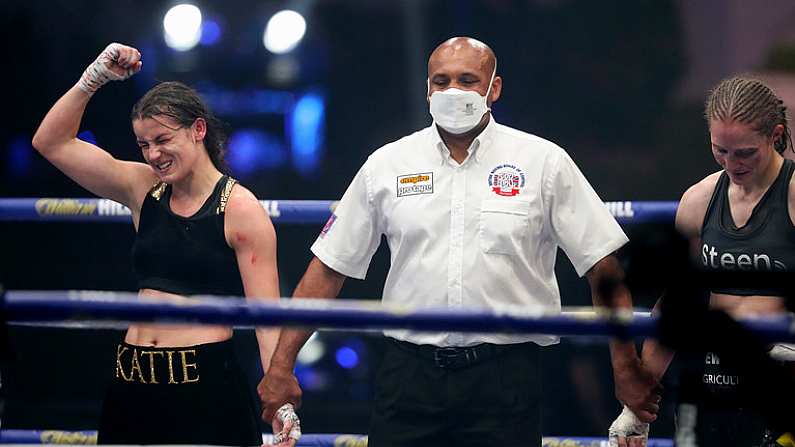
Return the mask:
<path fill-rule="evenodd" d="M 261 200 L 275 223 L 322 224 L 337 206 L 332 200 Z M 622 224 L 673 223 L 678 202 L 605 202 Z M 0 221 L 130 222 L 130 209 L 108 199 L 0 198 Z"/>

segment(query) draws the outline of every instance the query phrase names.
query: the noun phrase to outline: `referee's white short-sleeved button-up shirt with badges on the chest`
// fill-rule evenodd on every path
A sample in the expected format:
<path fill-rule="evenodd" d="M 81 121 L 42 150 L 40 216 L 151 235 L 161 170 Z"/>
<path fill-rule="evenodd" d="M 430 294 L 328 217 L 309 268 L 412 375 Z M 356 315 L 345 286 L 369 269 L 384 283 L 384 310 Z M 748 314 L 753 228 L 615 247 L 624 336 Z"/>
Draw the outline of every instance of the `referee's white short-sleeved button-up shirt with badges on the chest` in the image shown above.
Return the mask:
<path fill-rule="evenodd" d="M 460 165 L 435 125 L 373 152 L 312 252 L 364 279 L 386 235 L 391 266 L 383 301 L 447 309 L 560 312 L 555 257 L 577 273 L 628 239 L 568 154 L 492 118 Z M 556 343 L 558 337 L 387 330 L 436 346 Z"/>

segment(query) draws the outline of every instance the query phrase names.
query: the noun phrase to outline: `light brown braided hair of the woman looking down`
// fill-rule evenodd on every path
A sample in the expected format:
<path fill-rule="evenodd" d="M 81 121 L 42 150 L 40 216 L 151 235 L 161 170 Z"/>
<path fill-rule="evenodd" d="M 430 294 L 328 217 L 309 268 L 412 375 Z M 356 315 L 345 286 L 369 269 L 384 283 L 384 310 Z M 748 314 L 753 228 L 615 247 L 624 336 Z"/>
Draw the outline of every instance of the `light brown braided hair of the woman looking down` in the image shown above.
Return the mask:
<path fill-rule="evenodd" d="M 766 137 L 772 136 L 773 129 L 781 124 L 784 133 L 773 142 L 773 147 L 779 154 L 784 153 L 787 146 L 793 147 L 784 101 L 757 79 L 734 77 L 721 81 L 707 98 L 704 116 L 707 121 L 750 124 Z"/>

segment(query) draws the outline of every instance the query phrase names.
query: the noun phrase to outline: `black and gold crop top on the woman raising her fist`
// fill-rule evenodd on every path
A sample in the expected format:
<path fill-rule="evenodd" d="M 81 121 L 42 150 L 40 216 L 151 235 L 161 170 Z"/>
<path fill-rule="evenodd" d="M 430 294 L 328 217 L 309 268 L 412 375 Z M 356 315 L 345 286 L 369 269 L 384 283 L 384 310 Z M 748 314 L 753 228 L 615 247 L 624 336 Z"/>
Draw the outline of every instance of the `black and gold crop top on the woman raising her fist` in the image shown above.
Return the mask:
<path fill-rule="evenodd" d="M 235 183 L 223 176 L 190 217 L 171 211 L 170 185 L 152 188 L 141 207 L 132 248 L 139 289 L 179 295 L 244 294 L 235 252 L 224 236 L 224 211 Z"/>

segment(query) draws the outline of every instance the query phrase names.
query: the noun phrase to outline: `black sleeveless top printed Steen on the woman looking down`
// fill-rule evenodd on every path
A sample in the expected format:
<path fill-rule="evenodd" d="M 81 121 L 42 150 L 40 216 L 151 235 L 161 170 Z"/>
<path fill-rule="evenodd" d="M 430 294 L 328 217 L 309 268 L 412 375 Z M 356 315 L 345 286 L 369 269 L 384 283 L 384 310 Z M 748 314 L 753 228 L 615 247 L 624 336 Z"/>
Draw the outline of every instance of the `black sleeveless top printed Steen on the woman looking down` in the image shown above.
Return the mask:
<path fill-rule="evenodd" d="M 776 180 L 756 204 L 748 222 L 737 228 L 729 208 L 729 176 L 724 171 L 709 201 L 701 227 L 699 264 L 708 271 L 789 271 L 795 268 L 795 226 L 789 216 L 792 160 L 784 160 Z M 780 296 L 775 287 L 713 288 L 713 293 Z"/>

